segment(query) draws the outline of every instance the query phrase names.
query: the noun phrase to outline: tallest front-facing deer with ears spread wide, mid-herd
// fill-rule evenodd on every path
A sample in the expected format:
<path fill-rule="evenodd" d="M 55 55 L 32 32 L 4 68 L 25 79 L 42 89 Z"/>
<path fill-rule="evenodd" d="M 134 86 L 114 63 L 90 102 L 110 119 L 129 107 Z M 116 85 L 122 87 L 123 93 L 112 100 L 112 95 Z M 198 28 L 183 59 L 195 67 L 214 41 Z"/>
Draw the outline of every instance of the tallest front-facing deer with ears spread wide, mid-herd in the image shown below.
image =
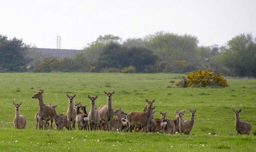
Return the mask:
<path fill-rule="evenodd" d="M 110 131 L 110 122 L 114 117 L 114 109 L 112 107 L 112 95 L 115 93 L 115 90 L 108 92 L 104 90 L 104 94 L 107 96 L 108 105 L 102 105 L 98 109 L 100 121 L 106 125 L 106 130 Z"/>

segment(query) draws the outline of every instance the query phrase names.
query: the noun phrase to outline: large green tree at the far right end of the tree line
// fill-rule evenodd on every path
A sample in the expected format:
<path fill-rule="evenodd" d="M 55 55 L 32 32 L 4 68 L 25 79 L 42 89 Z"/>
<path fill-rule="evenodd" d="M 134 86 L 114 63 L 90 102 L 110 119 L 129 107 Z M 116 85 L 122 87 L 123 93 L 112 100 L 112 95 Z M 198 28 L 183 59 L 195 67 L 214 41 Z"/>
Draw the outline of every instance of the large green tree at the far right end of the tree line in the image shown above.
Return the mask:
<path fill-rule="evenodd" d="M 251 34 L 233 37 L 216 62 L 228 68 L 229 75 L 256 77 L 256 39 Z"/>

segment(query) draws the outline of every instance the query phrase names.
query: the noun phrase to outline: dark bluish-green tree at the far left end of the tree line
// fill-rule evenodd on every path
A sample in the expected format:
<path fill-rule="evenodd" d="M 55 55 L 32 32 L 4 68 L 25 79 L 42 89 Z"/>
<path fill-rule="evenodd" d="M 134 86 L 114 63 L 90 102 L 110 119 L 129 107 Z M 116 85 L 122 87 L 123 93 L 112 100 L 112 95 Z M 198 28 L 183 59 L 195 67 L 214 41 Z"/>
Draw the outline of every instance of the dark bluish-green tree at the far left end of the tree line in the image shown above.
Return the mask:
<path fill-rule="evenodd" d="M 22 39 L 0 35 L 0 70 L 19 71 L 26 69 L 26 46 Z"/>

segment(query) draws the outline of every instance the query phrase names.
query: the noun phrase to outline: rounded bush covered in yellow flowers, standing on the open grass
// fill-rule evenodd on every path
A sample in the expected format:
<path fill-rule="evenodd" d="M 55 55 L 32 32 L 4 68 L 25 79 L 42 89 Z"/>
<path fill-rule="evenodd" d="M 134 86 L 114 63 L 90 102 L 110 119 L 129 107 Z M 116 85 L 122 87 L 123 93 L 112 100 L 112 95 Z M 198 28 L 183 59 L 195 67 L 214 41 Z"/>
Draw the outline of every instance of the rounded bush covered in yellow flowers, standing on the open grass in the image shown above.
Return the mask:
<path fill-rule="evenodd" d="M 183 87 L 208 87 L 208 86 L 222 86 L 227 87 L 227 81 L 224 76 L 214 71 L 198 70 L 187 74 L 187 78 L 180 83 Z"/>

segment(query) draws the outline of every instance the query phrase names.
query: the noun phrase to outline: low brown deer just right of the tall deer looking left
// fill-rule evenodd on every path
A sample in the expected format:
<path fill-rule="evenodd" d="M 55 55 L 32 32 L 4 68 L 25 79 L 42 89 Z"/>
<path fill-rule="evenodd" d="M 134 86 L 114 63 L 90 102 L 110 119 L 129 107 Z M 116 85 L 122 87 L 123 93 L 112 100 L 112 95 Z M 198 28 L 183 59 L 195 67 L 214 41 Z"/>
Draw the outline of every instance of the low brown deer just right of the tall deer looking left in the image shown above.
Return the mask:
<path fill-rule="evenodd" d="M 54 107 L 54 122 L 57 126 L 57 130 L 62 131 L 64 126 L 67 128 L 67 130 L 69 130 L 70 125 L 69 125 L 67 115 L 57 114 L 55 111 L 55 108 L 57 106 L 53 106 L 53 107 Z"/>

